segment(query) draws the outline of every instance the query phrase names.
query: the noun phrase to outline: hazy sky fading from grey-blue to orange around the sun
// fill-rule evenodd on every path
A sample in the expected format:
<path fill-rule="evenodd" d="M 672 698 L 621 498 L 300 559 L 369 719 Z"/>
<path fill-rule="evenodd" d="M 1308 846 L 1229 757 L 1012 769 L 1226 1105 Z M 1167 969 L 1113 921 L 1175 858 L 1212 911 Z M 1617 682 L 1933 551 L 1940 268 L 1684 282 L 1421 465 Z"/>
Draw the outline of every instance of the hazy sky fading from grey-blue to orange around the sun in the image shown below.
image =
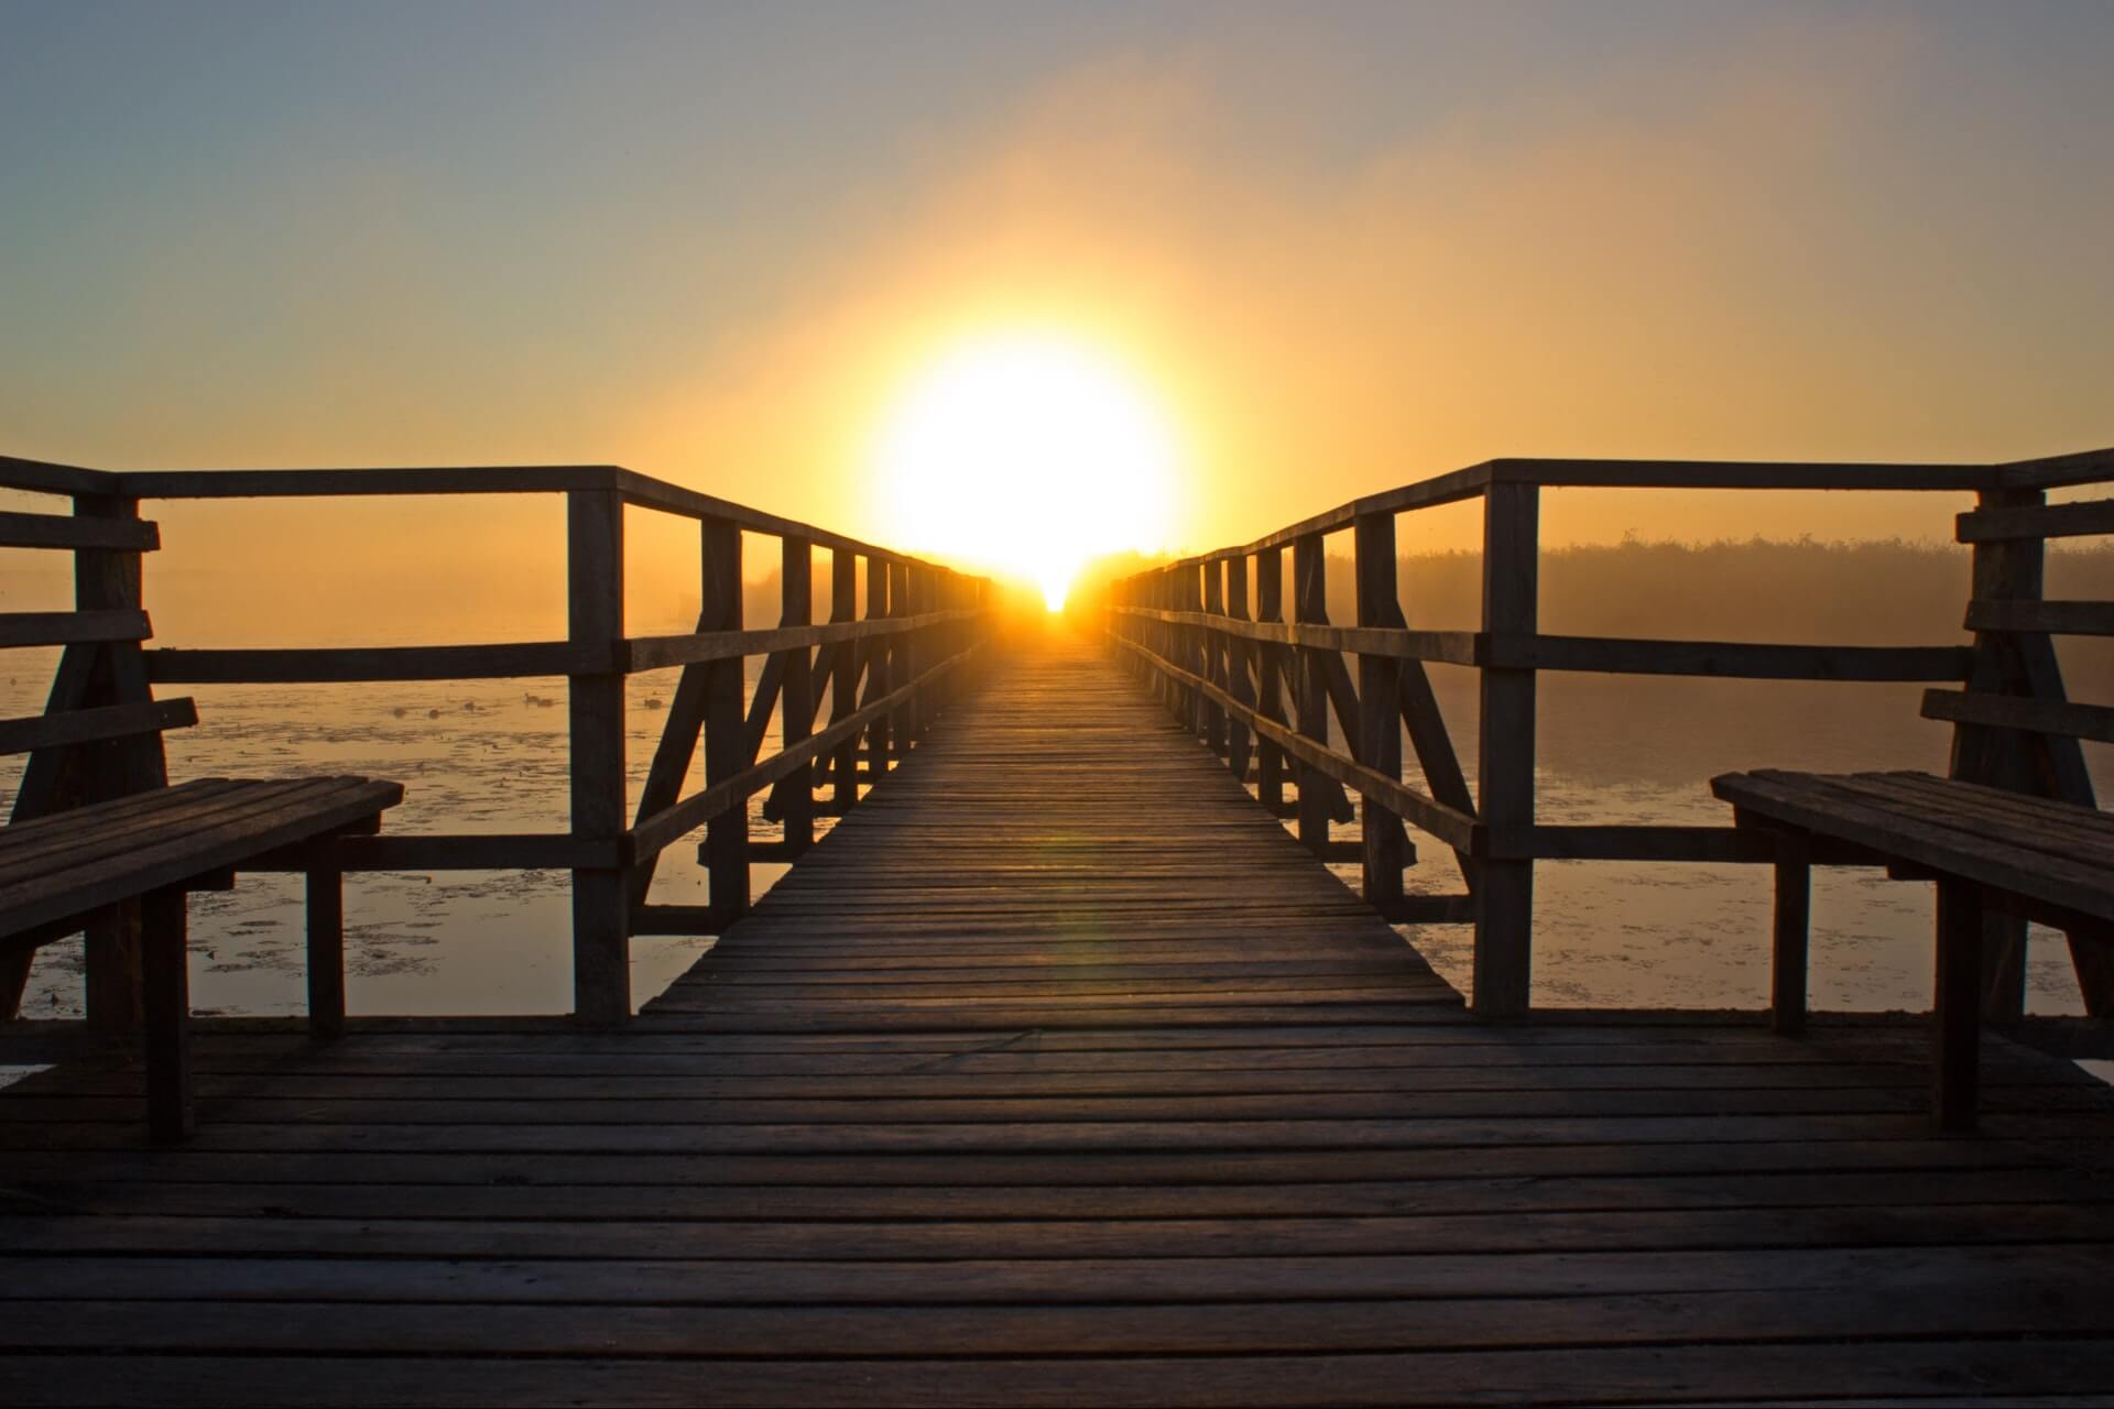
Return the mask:
<path fill-rule="evenodd" d="M 2114 4 L 2032 0 L 0 0 L 0 452 L 622 463 L 894 541 L 890 418 L 1021 330 L 1163 418 L 1161 547 L 1501 454 L 2103 446 L 2110 63 Z M 1000 539 L 1078 488 L 1023 463 Z M 1552 499 L 1552 541 L 1958 507 Z"/>

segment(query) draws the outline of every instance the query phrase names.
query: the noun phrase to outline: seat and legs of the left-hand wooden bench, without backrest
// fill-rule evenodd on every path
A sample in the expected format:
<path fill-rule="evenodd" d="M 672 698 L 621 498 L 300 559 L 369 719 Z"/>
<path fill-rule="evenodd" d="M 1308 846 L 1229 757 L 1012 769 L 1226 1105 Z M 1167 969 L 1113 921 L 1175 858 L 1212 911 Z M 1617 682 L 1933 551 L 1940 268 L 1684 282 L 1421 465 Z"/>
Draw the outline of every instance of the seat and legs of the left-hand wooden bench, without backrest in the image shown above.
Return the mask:
<path fill-rule="evenodd" d="M 345 1022 L 342 877 L 332 837 L 372 832 L 404 786 L 368 777 L 201 777 L 0 826 L 0 951 L 72 934 L 137 902 L 148 1130 L 190 1134 L 184 896 L 268 862 L 309 875 L 309 1014 Z"/>

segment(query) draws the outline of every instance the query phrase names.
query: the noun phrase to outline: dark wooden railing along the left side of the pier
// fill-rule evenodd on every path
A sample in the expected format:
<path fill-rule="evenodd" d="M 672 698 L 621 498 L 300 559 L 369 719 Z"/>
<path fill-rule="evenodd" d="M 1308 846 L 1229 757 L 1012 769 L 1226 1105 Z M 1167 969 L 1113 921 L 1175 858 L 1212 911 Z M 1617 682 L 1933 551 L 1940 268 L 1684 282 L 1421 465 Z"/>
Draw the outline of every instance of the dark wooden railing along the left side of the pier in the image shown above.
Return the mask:
<path fill-rule="evenodd" d="M 571 826 L 564 832 L 381 834 L 347 839 L 340 851 L 345 870 L 571 870 L 573 1008 L 592 1022 L 617 1022 L 630 1014 L 634 934 L 717 934 L 746 913 L 750 862 L 799 858 L 814 841 L 818 813 L 856 805 L 860 784 L 886 775 L 917 744 L 987 638 L 991 598 L 985 579 L 611 465 L 114 473 L 0 456 L 0 488 L 61 494 L 74 505 L 72 518 L 0 515 L 0 543 L 42 537 L 55 547 L 82 549 L 76 551 L 78 610 L 0 613 L 0 644 L 85 642 L 97 632 L 148 634 L 144 621 L 135 623 L 146 606 L 140 600 L 140 551 L 154 545 L 156 530 L 140 520 L 142 501 L 562 494 L 562 640 L 148 649 L 142 653 L 144 678 L 125 682 L 123 697 L 97 703 L 146 706 L 150 682 L 564 676 L 571 790 Z M 628 505 L 698 524 L 702 610 L 693 632 L 626 636 Z M 772 630 L 742 627 L 744 532 L 780 541 L 782 615 Z M 831 553 L 829 621 L 820 623 L 812 619 L 818 547 Z M 744 657 L 750 655 L 767 657 L 755 693 L 744 674 Z M 664 668 L 681 668 L 681 678 L 638 807 L 630 811 L 624 682 L 630 674 Z M 774 714 L 782 746 L 763 756 Z M 30 756 L 25 775 L 51 773 L 68 750 L 82 748 L 51 722 L 0 720 L 0 731 L 6 729 L 51 731 L 49 746 Z M 700 744 L 706 786 L 683 794 Z M 78 756 L 68 767 L 104 763 Z M 753 841 L 748 834 L 748 799 L 763 790 L 769 790 L 765 818 L 782 822 L 780 841 Z M 17 815 L 34 815 L 36 807 L 34 792 L 25 788 L 17 796 Z M 662 851 L 700 828 L 710 904 L 647 904 Z M 300 858 L 288 858 L 285 868 L 300 870 Z M 95 989 L 91 974 L 91 995 Z M 6 1008 L 11 1012 L 13 1001 Z"/>

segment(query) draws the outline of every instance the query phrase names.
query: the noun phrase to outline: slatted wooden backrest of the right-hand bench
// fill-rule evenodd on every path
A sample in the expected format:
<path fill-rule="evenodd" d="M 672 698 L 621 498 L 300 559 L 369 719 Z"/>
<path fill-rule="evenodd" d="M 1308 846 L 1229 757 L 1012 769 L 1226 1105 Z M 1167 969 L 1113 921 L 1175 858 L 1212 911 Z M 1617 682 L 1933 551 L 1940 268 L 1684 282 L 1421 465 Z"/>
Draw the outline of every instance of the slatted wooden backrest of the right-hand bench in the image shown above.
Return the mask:
<path fill-rule="evenodd" d="M 1955 537 L 1974 549 L 1966 689 L 1924 693 L 1924 718 L 1953 725 L 1951 775 L 2097 807 L 2080 739 L 2114 744 L 2114 710 L 2076 703 L 2053 636 L 2114 636 L 2114 602 L 2051 602 L 2046 541 L 2114 534 L 2114 499 L 2051 505 L 2040 490 L 1985 492 Z"/>

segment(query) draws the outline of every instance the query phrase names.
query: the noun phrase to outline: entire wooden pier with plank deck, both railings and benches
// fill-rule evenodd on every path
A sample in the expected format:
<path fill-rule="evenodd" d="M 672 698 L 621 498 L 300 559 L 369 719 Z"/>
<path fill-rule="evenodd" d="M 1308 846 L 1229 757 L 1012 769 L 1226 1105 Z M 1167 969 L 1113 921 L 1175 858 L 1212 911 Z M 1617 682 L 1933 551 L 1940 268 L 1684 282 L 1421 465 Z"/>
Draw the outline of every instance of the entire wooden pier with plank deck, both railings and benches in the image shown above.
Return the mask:
<path fill-rule="evenodd" d="M 49 1067 L 0 1092 L 0 1403 L 2110 1403 L 2114 1090 L 2070 1058 L 2114 1054 L 2080 754 L 2114 727 L 2051 636 L 2114 608 L 2040 591 L 2048 537 L 2114 530 L 2110 480 L 2108 452 L 1492 461 L 1059 625 L 609 467 L 0 458 L 55 496 L 0 543 L 76 564 L 74 610 L 0 613 L 0 644 L 61 649 L 51 708 L 0 722 L 27 754 L 0 997 L 80 932 L 89 993 L 82 1022 L 0 1029 L 0 1063 Z M 1543 634 L 1552 486 L 1953 494 L 1972 640 Z M 152 644 L 159 501 L 522 492 L 567 503 L 562 640 Z M 1484 621 L 1423 630 L 1395 520 L 1471 501 Z M 626 634 L 636 513 L 698 526 L 691 634 Z M 772 543 L 776 625 L 742 621 L 744 541 Z M 1471 758 L 1427 663 L 1480 674 Z M 624 680 L 662 668 L 628 786 Z M 1550 826 L 1547 670 L 1922 680 L 1953 767 L 1731 775 L 1723 826 Z M 184 684 L 552 676 L 564 832 L 397 830 L 397 779 L 216 784 L 161 748 L 211 720 Z M 676 845 L 710 904 L 653 900 Z M 761 898 L 755 860 L 791 862 Z M 1772 868 L 1772 991 L 1537 1008 L 1550 860 Z M 1939 887 L 1936 1014 L 1805 1012 L 1812 866 Z M 307 877 L 311 1014 L 194 1020 L 184 896 L 254 870 Z M 347 1014 L 359 870 L 571 872 L 575 1012 Z M 2027 921 L 2067 936 L 2089 1016 L 2023 1014 Z M 1473 934 L 1467 991 L 1421 955 L 1433 925 Z M 719 940 L 634 1012 L 638 934 Z"/>

